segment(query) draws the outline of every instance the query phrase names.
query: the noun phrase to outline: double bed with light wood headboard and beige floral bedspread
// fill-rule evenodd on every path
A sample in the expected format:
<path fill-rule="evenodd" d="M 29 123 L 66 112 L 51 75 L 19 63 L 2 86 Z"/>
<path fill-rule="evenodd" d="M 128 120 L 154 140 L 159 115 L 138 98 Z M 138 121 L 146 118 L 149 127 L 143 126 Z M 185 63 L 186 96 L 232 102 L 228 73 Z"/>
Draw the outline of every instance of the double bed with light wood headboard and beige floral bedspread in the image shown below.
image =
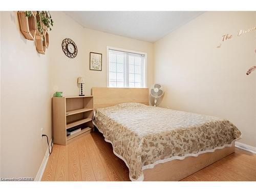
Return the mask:
<path fill-rule="evenodd" d="M 132 181 L 178 181 L 234 152 L 241 137 L 218 117 L 148 105 L 148 89 L 93 88 L 94 125 Z"/>

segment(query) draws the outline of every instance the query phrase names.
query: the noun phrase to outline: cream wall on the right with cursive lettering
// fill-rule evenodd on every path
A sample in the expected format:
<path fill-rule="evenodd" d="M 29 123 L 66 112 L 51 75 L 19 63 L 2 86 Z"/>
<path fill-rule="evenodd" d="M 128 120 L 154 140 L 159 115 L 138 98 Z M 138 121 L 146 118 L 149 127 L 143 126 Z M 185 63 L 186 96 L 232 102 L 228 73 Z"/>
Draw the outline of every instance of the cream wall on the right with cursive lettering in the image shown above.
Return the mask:
<path fill-rule="evenodd" d="M 233 122 L 241 142 L 256 146 L 255 12 L 206 12 L 154 44 L 154 81 L 165 88 L 161 106 Z M 233 38 L 222 42 L 222 35 Z"/>

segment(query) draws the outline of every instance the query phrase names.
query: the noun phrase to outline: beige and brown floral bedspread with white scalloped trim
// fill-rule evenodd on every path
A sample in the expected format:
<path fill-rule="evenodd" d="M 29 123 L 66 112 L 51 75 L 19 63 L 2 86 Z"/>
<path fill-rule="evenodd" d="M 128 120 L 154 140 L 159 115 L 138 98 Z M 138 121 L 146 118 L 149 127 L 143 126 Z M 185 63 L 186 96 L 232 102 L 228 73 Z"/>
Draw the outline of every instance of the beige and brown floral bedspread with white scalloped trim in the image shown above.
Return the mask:
<path fill-rule="evenodd" d="M 133 180 L 143 175 L 143 166 L 214 150 L 241 136 L 226 119 L 140 103 L 97 109 L 94 123 L 127 162 Z"/>

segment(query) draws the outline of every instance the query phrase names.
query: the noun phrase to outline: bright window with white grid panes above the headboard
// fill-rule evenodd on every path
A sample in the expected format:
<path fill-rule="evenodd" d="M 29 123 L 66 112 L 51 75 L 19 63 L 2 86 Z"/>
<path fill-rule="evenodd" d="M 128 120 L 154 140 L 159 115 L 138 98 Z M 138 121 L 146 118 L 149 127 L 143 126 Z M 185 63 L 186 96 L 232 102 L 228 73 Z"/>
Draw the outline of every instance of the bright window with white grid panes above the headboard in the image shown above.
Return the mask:
<path fill-rule="evenodd" d="M 107 48 L 108 87 L 144 88 L 146 87 L 146 54 Z"/>

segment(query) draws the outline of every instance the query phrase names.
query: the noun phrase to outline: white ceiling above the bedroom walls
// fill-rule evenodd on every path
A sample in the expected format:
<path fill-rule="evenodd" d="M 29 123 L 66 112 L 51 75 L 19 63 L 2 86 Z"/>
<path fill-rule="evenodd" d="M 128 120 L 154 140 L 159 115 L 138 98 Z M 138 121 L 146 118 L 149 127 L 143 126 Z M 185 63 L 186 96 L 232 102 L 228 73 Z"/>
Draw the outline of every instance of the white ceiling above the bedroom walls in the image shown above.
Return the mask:
<path fill-rule="evenodd" d="M 202 11 L 65 11 L 84 28 L 155 42 Z"/>

